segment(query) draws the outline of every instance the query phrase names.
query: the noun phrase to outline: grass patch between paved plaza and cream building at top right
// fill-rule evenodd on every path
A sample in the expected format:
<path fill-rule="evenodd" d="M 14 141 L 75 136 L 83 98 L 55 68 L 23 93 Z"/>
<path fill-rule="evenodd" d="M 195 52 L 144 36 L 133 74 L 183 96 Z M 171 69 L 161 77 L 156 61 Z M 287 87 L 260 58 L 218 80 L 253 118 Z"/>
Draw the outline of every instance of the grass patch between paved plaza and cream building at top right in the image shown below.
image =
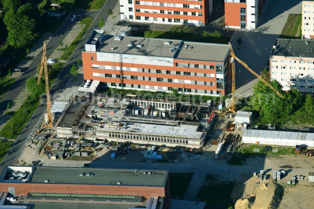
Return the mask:
<path fill-rule="evenodd" d="M 287 22 L 284 24 L 284 28 L 282 29 L 279 38 L 299 39 L 302 36 L 302 31 L 300 31 L 301 24 L 301 14 L 289 14 Z"/>

